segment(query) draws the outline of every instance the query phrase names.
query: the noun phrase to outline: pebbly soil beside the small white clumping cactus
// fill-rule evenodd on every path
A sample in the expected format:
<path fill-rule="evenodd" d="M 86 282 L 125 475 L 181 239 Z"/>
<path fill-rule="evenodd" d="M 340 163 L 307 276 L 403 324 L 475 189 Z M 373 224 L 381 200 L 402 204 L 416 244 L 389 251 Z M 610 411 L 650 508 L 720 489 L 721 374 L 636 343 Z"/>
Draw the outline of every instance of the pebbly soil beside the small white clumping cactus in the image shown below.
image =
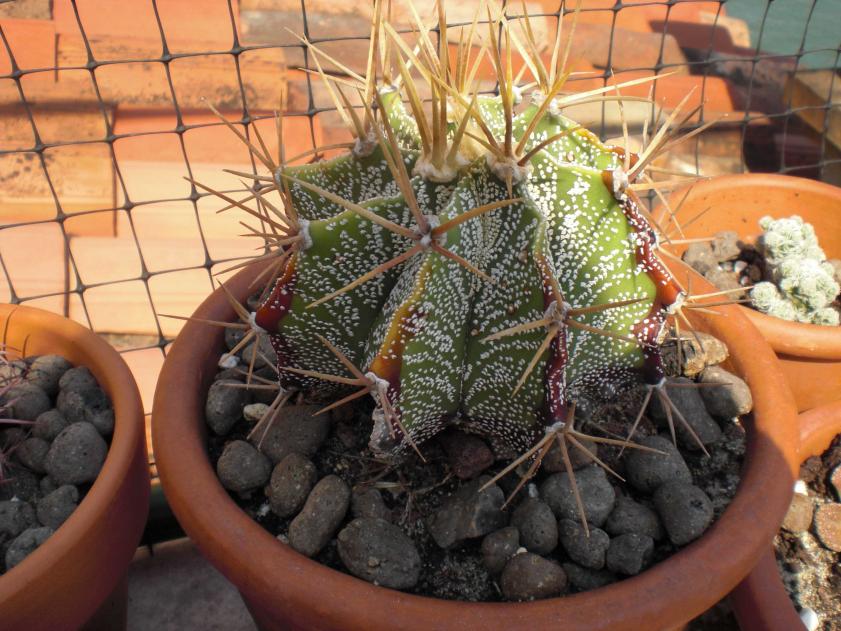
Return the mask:
<path fill-rule="evenodd" d="M 733 231 L 717 232 L 709 242 L 692 243 L 683 254 L 683 261 L 721 290 L 749 288 L 761 281 L 771 281 L 765 257 L 756 246 L 745 243 Z M 829 259 L 835 269 L 835 280 L 841 283 L 841 260 Z M 734 299 L 742 298 L 734 293 Z M 746 291 L 744 298 L 750 298 Z M 746 306 L 753 307 L 748 300 Z M 841 295 L 829 305 L 841 312 Z"/>

